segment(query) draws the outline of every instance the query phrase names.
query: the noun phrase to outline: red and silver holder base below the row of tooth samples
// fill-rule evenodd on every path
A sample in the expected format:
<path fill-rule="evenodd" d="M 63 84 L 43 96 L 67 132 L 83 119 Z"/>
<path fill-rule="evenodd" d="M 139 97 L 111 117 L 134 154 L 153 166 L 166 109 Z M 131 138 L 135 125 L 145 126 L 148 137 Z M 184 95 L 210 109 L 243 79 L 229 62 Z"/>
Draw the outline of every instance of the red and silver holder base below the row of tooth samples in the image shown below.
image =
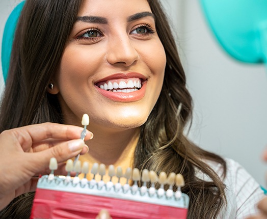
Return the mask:
<path fill-rule="evenodd" d="M 64 213 L 68 218 L 73 217 L 70 212 L 75 212 L 75 215 L 81 218 L 92 216 L 95 218 L 97 212 L 107 206 L 105 203 L 110 203 L 108 206 L 113 218 L 186 218 L 189 197 L 185 194 L 182 194 L 181 199 L 175 199 L 175 197 L 158 199 L 156 195 L 150 198 L 146 194 L 142 196 L 139 192 L 133 195 L 130 190 L 123 193 L 122 190 L 108 191 L 105 186 L 100 190 L 96 186 L 90 188 L 88 186 L 90 182 L 81 187 L 79 184 L 72 183 L 59 184 L 58 180 L 48 182 L 47 175 L 39 179 L 34 199 L 33 218 L 52 218 L 56 211 Z M 88 203 L 91 204 L 88 205 Z M 43 211 L 44 204 L 47 206 L 46 211 Z M 131 210 L 127 206 L 132 206 Z M 81 207 L 79 209 L 83 209 L 82 212 L 77 207 Z"/>

